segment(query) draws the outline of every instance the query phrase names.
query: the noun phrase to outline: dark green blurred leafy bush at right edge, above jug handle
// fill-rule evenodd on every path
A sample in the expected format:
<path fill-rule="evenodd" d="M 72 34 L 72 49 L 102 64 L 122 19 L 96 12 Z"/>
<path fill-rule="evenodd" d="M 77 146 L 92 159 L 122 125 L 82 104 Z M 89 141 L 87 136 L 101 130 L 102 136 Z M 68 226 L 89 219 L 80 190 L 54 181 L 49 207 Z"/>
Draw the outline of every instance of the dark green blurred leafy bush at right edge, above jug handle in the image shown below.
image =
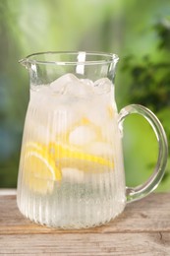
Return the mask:
<path fill-rule="evenodd" d="M 170 141 L 170 20 L 164 19 L 154 26 L 158 34 L 157 59 L 154 53 L 142 56 L 129 55 L 122 66 L 122 72 L 130 77 L 127 95 L 129 102 L 138 102 L 150 108 L 160 119 Z M 144 148 L 143 148 L 144 149 Z M 169 148 L 170 150 L 170 148 Z M 170 164 L 163 181 L 169 180 Z"/>

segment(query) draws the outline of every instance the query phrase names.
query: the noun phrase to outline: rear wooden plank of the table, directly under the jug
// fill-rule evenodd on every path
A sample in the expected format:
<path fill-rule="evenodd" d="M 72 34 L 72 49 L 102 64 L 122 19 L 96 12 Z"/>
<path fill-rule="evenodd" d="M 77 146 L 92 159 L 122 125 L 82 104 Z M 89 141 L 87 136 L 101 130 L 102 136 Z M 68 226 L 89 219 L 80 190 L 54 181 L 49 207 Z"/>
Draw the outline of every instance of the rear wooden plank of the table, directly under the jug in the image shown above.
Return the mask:
<path fill-rule="evenodd" d="M 170 231 L 170 195 L 151 194 L 129 204 L 113 222 L 88 229 L 63 230 L 32 224 L 19 212 L 16 196 L 0 196 L 0 234 L 113 233 Z"/>

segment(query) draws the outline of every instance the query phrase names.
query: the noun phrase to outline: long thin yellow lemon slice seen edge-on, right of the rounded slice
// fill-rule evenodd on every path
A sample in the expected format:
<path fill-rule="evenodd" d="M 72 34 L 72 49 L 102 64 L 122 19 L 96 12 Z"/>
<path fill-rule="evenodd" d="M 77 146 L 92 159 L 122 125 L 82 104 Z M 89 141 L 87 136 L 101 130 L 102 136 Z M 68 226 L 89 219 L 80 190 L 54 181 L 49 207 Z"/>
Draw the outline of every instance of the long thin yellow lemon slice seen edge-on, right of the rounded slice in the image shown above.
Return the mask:
<path fill-rule="evenodd" d="M 100 172 L 113 169 L 113 160 L 87 154 L 61 144 L 50 144 L 50 154 L 54 156 L 57 166 L 79 168 L 84 171 Z"/>

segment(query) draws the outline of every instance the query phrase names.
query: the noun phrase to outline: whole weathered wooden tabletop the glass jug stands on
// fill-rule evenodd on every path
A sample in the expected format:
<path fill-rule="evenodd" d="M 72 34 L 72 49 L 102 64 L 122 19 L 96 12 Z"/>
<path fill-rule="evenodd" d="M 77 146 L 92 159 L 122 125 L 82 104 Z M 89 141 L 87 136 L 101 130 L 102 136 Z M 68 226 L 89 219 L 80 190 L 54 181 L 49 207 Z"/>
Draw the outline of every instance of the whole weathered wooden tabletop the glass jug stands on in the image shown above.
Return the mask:
<path fill-rule="evenodd" d="M 0 195 L 0 255 L 9 254 L 170 255 L 170 194 L 151 194 L 115 221 L 81 230 L 32 224 L 20 214 L 15 195 Z"/>

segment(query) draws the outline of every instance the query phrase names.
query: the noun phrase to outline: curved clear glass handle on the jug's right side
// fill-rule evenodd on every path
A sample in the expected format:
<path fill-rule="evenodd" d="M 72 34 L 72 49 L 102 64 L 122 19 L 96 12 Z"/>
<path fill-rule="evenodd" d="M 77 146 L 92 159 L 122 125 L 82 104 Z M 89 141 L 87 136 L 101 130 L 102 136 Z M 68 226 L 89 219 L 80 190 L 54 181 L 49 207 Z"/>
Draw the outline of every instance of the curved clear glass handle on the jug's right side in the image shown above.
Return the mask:
<path fill-rule="evenodd" d="M 119 129 L 123 130 L 123 121 L 128 115 L 133 113 L 142 115 L 151 125 L 158 143 L 158 158 L 153 173 L 142 185 L 137 187 L 126 187 L 128 203 L 142 199 L 158 186 L 164 175 L 168 159 L 168 143 L 165 131 L 158 118 L 148 108 L 140 104 L 130 104 L 122 108 L 118 117 Z"/>

